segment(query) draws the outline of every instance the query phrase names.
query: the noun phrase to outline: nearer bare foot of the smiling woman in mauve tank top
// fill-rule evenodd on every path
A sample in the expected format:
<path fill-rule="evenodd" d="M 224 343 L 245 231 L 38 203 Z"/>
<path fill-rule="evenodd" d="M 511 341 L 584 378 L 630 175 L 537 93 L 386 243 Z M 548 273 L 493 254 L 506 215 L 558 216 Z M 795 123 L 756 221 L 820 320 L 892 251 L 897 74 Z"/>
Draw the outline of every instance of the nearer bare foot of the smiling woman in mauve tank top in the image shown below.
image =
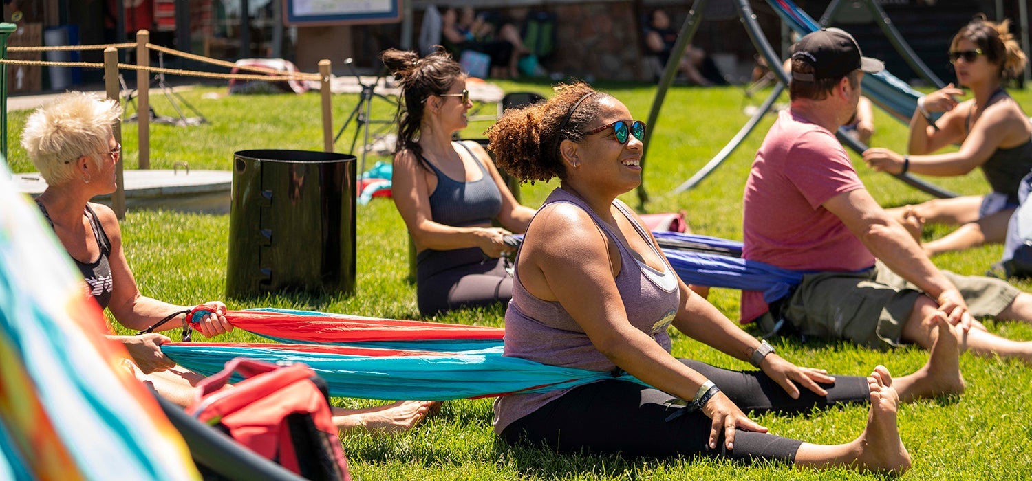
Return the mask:
<path fill-rule="evenodd" d="M 877 366 L 867 378 L 867 385 L 871 389 L 871 411 L 864 434 L 854 441 L 861 449 L 857 460 L 864 471 L 901 475 L 910 469 L 910 454 L 896 425 L 900 400 L 893 378 L 884 366 Z"/>

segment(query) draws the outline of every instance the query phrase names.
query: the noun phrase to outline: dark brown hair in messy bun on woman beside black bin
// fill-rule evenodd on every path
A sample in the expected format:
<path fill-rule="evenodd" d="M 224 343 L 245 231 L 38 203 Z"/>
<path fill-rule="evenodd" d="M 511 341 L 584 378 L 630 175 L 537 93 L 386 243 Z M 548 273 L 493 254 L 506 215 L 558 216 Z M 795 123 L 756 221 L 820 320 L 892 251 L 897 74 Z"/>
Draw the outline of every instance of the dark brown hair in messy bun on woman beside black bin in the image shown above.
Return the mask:
<path fill-rule="evenodd" d="M 412 150 L 423 161 L 419 146 L 419 128 L 423 122 L 426 99 L 447 94 L 455 80 L 465 76 L 462 66 L 441 45 L 422 59 L 419 54 L 389 48 L 380 53 L 380 60 L 401 85 L 401 101 L 397 105 L 397 150 Z"/>

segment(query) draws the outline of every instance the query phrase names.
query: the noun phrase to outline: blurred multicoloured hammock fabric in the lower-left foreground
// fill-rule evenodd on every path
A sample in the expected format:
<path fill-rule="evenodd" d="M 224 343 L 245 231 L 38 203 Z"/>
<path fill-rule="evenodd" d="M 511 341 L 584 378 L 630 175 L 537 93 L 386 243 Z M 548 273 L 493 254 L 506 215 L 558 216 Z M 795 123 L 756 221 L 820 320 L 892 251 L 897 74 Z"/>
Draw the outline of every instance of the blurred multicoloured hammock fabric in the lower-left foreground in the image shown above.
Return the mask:
<path fill-rule="evenodd" d="M 199 479 L 30 204 L 0 157 L 0 478 Z"/>

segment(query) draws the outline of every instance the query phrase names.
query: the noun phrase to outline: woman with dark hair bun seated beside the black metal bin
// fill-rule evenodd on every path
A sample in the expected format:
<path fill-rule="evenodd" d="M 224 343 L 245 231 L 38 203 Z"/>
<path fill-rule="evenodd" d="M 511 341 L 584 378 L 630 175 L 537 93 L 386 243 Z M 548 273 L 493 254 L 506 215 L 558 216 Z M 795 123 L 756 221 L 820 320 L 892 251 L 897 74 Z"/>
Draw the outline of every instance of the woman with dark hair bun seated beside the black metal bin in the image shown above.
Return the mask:
<path fill-rule="evenodd" d="M 401 87 L 391 192 L 418 252 L 419 312 L 508 303 L 506 236 L 525 231 L 534 209 L 516 201 L 479 143 L 452 140 L 473 106 L 462 67 L 440 47 L 422 59 L 397 49 L 380 58 Z"/>

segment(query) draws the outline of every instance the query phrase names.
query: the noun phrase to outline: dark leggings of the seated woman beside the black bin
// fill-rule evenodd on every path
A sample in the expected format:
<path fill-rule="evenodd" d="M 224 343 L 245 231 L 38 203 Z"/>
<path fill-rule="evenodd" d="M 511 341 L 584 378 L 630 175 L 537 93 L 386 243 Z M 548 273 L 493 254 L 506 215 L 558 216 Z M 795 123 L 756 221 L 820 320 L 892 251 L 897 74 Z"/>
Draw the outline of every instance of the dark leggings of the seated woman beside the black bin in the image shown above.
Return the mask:
<path fill-rule="evenodd" d="M 416 263 L 416 297 L 422 315 L 505 304 L 513 297 L 513 276 L 506 271 L 506 260 L 488 259 L 479 248 L 427 249 Z"/>

